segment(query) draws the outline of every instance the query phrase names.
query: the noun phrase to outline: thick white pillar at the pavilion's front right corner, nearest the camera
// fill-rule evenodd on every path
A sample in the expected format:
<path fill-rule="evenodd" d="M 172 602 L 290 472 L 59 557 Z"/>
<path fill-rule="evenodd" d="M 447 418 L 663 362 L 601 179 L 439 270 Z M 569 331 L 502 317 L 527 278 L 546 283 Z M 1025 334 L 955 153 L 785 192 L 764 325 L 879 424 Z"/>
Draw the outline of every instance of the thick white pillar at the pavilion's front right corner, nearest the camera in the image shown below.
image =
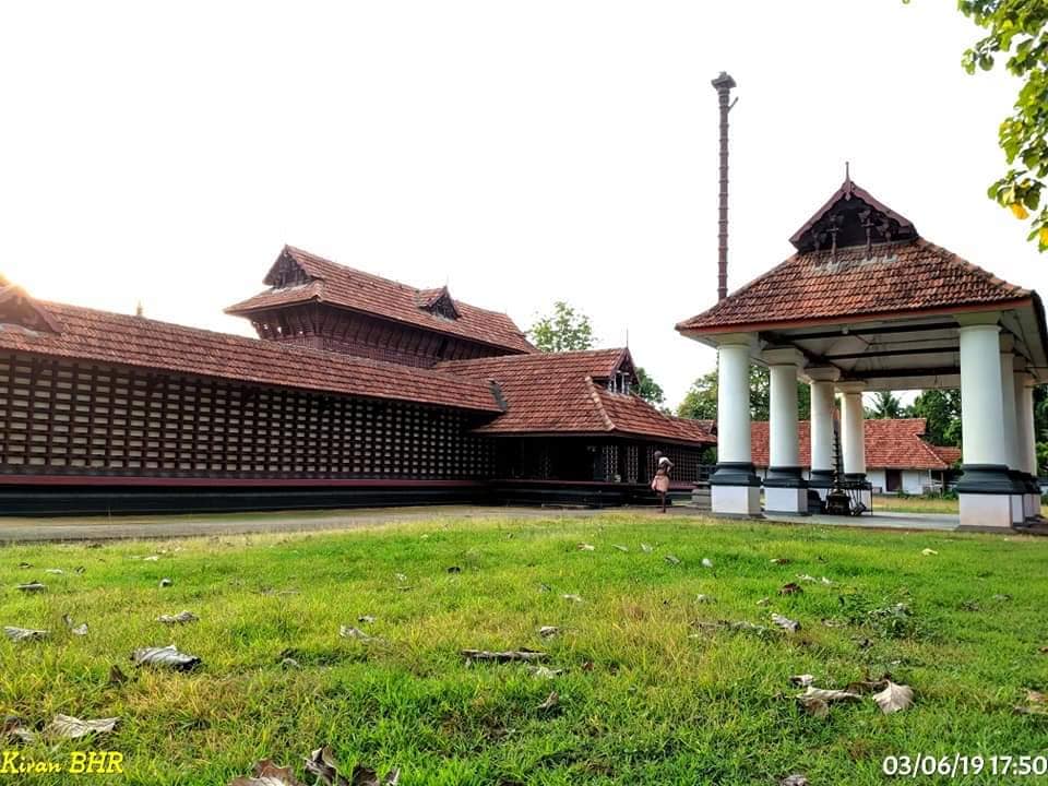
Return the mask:
<path fill-rule="evenodd" d="M 1001 529 L 1013 522 L 1008 475 L 1009 450 L 1002 439 L 1004 396 L 999 314 L 958 317 L 961 323 L 961 429 L 964 476 L 957 484 L 961 526 Z"/>

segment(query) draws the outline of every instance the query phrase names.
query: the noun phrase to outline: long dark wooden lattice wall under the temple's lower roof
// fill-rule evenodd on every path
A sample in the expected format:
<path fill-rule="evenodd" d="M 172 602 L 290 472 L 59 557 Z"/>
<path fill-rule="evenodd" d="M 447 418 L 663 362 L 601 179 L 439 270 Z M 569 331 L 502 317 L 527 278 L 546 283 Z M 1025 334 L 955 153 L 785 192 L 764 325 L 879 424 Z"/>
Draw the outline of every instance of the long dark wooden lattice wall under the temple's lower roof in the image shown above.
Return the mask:
<path fill-rule="evenodd" d="M 469 415 L 25 355 L 0 356 L 0 473 L 485 478 Z"/>

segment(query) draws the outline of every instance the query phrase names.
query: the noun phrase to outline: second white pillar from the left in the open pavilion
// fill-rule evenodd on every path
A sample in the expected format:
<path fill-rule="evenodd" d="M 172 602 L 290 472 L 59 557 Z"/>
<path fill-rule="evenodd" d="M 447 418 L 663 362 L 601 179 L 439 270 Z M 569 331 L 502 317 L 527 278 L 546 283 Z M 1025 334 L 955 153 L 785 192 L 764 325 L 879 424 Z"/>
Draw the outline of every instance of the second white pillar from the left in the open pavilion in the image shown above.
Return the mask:
<path fill-rule="evenodd" d="M 764 508 L 777 513 L 808 513 L 808 484 L 800 466 L 797 434 L 797 368 L 803 356 L 796 349 L 765 349 L 770 389 L 769 467 L 764 478 Z"/>

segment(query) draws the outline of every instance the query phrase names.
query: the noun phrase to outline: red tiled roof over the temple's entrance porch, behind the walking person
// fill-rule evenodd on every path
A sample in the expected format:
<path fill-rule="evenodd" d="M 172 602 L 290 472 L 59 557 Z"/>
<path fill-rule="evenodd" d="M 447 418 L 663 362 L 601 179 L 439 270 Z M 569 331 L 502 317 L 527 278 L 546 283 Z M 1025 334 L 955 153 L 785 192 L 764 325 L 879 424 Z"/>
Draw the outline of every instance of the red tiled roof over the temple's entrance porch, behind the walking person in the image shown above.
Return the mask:
<path fill-rule="evenodd" d="M 627 349 L 596 349 L 448 360 L 436 368 L 498 383 L 507 412 L 478 432 L 617 432 L 691 444 L 715 441 L 696 421 L 664 415 L 639 396 L 611 393 L 598 383 L 626 362 L 632 362 Z"/>

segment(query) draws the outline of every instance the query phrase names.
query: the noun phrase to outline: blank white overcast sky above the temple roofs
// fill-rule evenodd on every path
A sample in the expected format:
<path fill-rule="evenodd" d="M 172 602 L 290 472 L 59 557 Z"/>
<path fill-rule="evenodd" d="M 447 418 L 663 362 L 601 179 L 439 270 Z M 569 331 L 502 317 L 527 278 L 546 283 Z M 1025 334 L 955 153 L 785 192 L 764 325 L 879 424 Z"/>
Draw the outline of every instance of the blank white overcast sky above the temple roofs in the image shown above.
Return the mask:
<path fill-rule="evenodd" d="M 671 403 L 714 365 L 674 324 L 856 182 L 925 237 L 1045 289 L 985 195 L 1003 74 L 952 0 L 24 2 L 0 7 L 0 272 L 36 296 L 250 333 L 222 309 L 287 242 L 508 311 L 556 298 Z"/>

